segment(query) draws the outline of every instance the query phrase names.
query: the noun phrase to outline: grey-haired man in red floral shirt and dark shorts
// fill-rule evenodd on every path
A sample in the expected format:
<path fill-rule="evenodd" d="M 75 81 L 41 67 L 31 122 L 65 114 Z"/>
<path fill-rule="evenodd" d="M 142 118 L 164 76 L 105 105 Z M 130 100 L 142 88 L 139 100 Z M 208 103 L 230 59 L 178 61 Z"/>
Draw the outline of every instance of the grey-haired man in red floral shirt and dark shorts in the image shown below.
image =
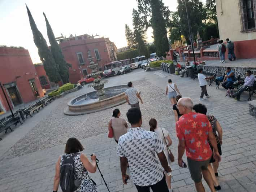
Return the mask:
<path fill-rule="evenodd" d="M 212 150 L 208 139 L 213 146 L 213 156 L 216 161 L 221 157 L 218 153 L 216 139 L 212 132 L 211 123 L 204 114 L 192 112 L 193 102 L 190 98 L 181 98 L 178 101 L 179 113 L 183 114 L 176 123 L 176 133 L 179 139 L 178 164 L 182 166 L 182 156 L 186 149 L 188 168 L 191 178 L 195 182 L 198 192 L 205 191 L 201 182 L 202 173 L 212 192 L 215 192 L 213 180 L 207 167 L 211 160 Z"/>

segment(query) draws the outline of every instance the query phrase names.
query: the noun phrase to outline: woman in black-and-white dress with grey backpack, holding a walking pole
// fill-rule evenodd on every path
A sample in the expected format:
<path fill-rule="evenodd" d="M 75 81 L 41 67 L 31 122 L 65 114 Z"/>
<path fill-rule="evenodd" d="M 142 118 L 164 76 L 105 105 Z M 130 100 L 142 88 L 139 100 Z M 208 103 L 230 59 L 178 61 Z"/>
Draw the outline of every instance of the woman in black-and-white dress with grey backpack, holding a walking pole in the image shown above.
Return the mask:
<path fill-rule="evenodd" d="M 88 174 L 97 170 L 96 156 L 93 154 L 90 162 L 83 153 L 79 153 L 82 150 L 84 148 L 78 139 L 68 139 L 65 153 L 55 166 L 53 192 L 57 192 L 59 184 L 63 192 L 97 192 L 96 183 Z"/>

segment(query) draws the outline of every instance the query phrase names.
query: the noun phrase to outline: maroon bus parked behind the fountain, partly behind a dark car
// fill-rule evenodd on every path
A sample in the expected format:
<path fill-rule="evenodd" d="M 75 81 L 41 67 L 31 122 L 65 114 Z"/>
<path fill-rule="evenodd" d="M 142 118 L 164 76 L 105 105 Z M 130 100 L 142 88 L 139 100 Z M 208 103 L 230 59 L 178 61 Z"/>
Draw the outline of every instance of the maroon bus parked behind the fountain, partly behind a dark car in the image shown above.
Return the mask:
<path fill-rule="evenodd" d="M 105 77 L 113 76 L 117 74 L 122 67 L 130 66 L 131 61 L 130 59 L 120 60 L 120 61 L 113 61 L 109 64 L 104 66 L 104 75 Z"/>

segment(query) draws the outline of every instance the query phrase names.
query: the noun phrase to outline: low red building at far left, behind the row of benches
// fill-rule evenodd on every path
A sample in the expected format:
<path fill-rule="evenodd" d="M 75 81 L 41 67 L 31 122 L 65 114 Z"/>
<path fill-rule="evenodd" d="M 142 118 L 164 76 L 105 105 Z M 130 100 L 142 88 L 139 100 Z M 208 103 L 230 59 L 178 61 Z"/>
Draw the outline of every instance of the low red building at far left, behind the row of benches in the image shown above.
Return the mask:
<path fill-rule="evenodd" d="M 0 82 L 12 108 L 44 95 L 27 49 L 0 47 Z M 0 114 L 8 110 L 0 90 Z"/>

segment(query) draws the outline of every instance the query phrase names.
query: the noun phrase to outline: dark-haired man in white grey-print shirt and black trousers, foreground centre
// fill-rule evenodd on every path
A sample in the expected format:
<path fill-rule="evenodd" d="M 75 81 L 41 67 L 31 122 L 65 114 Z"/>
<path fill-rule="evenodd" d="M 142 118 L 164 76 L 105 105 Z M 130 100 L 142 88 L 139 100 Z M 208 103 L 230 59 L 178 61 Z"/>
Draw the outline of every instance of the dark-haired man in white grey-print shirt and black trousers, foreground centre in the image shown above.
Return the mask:
<path fill-rule="evenodd" d="M 138 192 L 169 192 L 164 170 L 171 174 L 165 154 L 164 142 L 155 132 L 141 128 L 142 115 L 138 108 L 131 108 L 127 112 L 131 123 L 130 130 L 118 140 L 117 154 L 120 156 L 123 183 L 127 184 L 127 161 L 129 163 L 131 179 Z M 161 165 L 156 158 L 159 157 Z M 162 170 L 164 167 L 164 170 Z"/>

